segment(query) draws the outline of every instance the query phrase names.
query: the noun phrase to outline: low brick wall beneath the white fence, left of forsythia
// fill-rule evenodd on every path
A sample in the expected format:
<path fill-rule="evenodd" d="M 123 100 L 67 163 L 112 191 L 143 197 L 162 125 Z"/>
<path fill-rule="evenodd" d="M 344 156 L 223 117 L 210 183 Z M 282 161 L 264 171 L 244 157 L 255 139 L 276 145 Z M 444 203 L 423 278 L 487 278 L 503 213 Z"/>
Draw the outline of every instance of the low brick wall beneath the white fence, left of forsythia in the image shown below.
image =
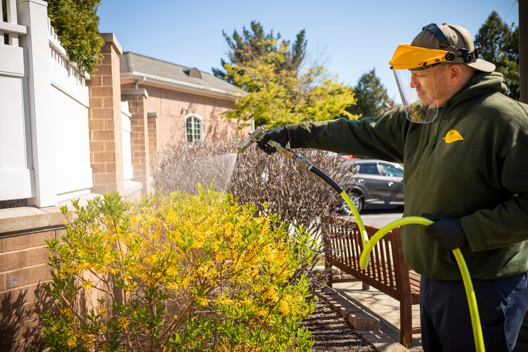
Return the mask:
<path fill-rule="evenodd" d="M 42 346 L 39 313 L 53 307 L 42 288 L 51 279 L 44 240 L 60 237 L 63 231 L 0 238 L 0 351 Z"/>

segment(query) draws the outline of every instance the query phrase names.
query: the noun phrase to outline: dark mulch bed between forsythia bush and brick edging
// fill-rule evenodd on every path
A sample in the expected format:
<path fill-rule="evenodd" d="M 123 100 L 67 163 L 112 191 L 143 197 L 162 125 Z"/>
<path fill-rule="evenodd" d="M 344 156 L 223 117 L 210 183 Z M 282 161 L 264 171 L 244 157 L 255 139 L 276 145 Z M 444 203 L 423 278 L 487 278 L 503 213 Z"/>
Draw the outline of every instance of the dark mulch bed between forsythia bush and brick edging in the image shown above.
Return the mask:
<path fill-rule="evenodd" d="M 326 302 L 316 302 L 314 313 L 301 325 L 312 332 L 312 339 L 315 341 L 314 352 L 376 352 L 376 349 L 357 335 L 348 322 Z"/>

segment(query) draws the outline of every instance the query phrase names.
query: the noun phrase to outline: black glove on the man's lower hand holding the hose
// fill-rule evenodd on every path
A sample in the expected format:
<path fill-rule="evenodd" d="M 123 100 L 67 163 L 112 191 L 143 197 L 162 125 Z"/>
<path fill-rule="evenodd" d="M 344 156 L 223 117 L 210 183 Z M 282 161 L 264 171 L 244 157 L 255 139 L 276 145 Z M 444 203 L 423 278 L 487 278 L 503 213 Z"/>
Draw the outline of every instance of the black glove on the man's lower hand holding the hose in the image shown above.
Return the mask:
<path fill-rule="evenodd" d="M 433 235 L 441 248 L 452 251 L 467 242 L 458 217 L 428 213 L 422 213 L 422 216 L 435 222 L 426 227 L 426 233 Z"/>

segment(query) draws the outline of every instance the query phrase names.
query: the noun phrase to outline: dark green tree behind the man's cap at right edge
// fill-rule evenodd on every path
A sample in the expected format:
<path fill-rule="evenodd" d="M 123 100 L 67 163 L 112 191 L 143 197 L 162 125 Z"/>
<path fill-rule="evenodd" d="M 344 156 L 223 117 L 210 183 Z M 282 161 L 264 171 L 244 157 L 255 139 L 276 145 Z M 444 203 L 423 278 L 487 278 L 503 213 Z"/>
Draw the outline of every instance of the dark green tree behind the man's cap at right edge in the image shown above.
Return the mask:
<path fill-rule="evenodd" d="M 508 26 L 493 11 L 475 35 L 475 43 L 482 45 L 484 60 L 493 62 L 497 72 L 504 75 L 508 87 L 506 95 L 519 100 L 519 27 Z"/>

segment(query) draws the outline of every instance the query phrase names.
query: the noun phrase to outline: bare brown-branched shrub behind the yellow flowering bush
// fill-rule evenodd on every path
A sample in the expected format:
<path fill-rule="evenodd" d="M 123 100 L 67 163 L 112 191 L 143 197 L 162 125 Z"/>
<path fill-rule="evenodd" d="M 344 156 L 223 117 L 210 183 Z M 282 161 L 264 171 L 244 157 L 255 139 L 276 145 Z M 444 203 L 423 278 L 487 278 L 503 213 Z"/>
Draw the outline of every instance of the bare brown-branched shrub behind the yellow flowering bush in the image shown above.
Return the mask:
<path fill-rule="evenodd" d="M 257 214 L 278 213 L 281 221 L 291 224 L 290 231 L 304 227 L 317 237 L 316 251 L 323 253 L 322 235 L 331 233 L 329 226 L 335 232 L 345 226 L 335 218 L 342 198 L 323 180 L 280 153 L 268 156 L 251 146 L 236 157 L 232 153 L 241 144 L 242 139 L 235 137 L 220 143 L 180 144 L 159 151 L 152 162 L 155 189 L 165 194 L 176 189 L 193 194 L 197 184 L 212 183 L 219 191 L 237 196 L 240 203 L 255 204 Z M 340 158 L 325 151 L 299 149 L 297 154 L 340 184 L 349 183 L 348 178 L 352 177 L 341 177 Z M 314 286 L 324 286 L 327 273 L 313 270 L 319 259 L 320 256 L 306 262 L 294 279 L 304 273 L 312 278 Z"/>

